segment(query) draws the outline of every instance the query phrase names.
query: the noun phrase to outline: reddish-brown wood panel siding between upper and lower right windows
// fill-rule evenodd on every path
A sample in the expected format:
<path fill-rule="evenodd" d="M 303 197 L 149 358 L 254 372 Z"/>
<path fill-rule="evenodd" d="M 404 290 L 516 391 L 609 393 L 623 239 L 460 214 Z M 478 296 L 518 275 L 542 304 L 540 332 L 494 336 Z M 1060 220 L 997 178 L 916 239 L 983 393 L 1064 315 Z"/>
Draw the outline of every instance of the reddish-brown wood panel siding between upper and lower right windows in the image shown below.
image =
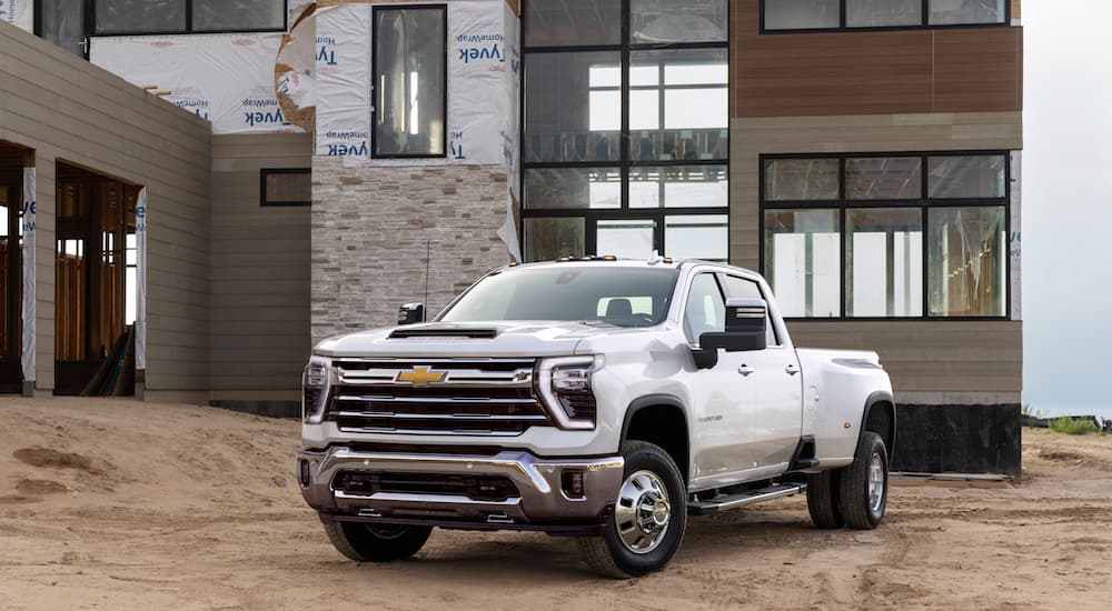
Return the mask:
<path fill-rule="evenodd" d="M 1022 28 L 759 33 L 732 6 L 733 117 L 1022 110 Z"/>

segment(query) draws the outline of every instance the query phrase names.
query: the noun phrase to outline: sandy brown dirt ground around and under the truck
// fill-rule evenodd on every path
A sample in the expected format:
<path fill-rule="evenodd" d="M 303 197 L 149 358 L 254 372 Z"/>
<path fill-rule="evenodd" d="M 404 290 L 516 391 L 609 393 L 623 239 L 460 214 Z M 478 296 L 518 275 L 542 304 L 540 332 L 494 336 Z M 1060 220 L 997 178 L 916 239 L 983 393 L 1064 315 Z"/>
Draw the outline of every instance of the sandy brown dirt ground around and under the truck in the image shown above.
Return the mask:
<path fill-rule="evenodd" d="M 693 519 L 664 572 L 575 544 L 435 531 L 341 558 L 292 473 L 298 424 L 186 405 L 0 398 L 0 609 L 1096 609 L 1112 594 L 1112 437 L 1024 431 L 1009 489 L 893 488 L 875 531 L 801 497 Z M 1106 608 L 1106 607 L 1103 607 Z"/>

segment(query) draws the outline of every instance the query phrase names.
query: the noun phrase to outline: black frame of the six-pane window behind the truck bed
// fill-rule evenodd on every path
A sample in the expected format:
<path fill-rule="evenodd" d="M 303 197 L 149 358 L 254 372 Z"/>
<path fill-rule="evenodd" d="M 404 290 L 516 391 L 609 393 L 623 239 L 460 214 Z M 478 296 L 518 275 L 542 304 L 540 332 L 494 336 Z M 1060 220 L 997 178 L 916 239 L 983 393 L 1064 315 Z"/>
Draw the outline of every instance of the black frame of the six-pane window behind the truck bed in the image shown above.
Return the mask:
<path fill-rule="evenodd" d="M 872 159 L 872 158 L 920 158 L 922 163 L 921 193 L 919 198 L 907 199 L 885 199 L 866 200 L 848 199 L 846 197 L 846 160 L 848 159 Z M 1003 157 L 1004 158 L 1004 194 L 1000 198 L 931 198 L 929 158 L 937 157 Z M 836 159 L 838 161 L 838 198 L 836 200 L 813 200 L 813 201 L 790 201 L 790 200 L 766 200 L 765 193 L 765 162 L 777 159 Z M 1004 263 L 1004 311 L 1002 315 L 987 317 L 947 317 L 931 314 L 931 277 L 930 277 L 930 211 L 940 208 L 1004 208 L 1004 232 L 1010 241 L 1012 238 L 1012 151 L 1010 150 L 942 150 L 942 151 L 884 151 L 884 152 L 848 152 L 848 153 L 788 153 L 788 154 L 761 154 L 757 158 L 758 169 L 758 247 L 757 247 L 757 269 L 765 273 L 765 212 L 770 210 L 835 210 L 838 216 L 838 314 L 837 317 L 784 317 L 785 320 L 803 322 L 914 322 L 914 321 L 1010 321 L 1012 320 L 1012 259 L 1011 248 Z M 922 214 L 922 313 L 920 315 L 905 317 L 851 317 L 846 315 L 846 211 L 847 210 L 891 210 L 891 209 L 919 209 Z M 771 280 L 770 280 L 771 282 Z M 775 287 L 773 287 L 775 292 Z"/>

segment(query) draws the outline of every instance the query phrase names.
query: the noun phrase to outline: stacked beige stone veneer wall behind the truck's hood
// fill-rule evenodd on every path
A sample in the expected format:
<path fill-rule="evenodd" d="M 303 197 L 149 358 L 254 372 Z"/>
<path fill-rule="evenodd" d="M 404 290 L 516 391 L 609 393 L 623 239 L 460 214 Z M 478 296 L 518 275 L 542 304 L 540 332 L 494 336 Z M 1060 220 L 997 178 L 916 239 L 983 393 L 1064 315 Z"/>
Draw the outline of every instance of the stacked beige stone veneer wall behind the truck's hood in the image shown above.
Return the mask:
<path fill-rule="evenodd" d="M 502 166 L 345 168 L 312 163 L 312 342 L 394 324 L 426 301 L 431 318 L 487 271 L 509 262 Z"/>

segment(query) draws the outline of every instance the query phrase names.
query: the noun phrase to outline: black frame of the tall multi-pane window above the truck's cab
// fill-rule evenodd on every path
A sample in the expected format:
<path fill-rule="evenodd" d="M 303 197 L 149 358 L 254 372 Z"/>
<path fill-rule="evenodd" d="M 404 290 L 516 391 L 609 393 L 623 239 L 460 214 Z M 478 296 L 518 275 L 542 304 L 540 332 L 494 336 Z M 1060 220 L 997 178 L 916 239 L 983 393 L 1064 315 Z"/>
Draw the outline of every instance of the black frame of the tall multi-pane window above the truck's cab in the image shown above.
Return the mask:
<path fill-rule="evenodd" d="M 538 1 L 538 0 L 533 0 Z M 731 23 L 733 19 L 734 1 L 726 0 L 726 23 Z M 522 157 L 522 171 L 518 183 L 518 192 L 522 194 L 520 202 L 520 218 L 518 221 L 518 236 L 522 241 L 522 254 L 523 258 L 526 252 L 527 236 L 525 232 L 525 224 L 527 219 L 535 218 L 576 218 L 584 220 L 584 250 L 582 253 L 564 253 L 564 254 L 607 254 L 599 253 L 598 246 L 598 221 L 609 221 L 609 220 L 652 220 L 654 223 L 653 228 L 653 244 L 657 248 L 659 252 L 667 254 L 667 243 L 665 242 L 666 233 L 666 222 L 668 217 L 695 217 L 695 216 L 706 216 L 706 217 L 726 217 L 726 259 L 723 262 L 728 263 L 732 260 L 732 248 L 729 241 L 729 230 L 733 226 L 733 219 L 729 213 L 729 202 L 731 193 L 729 189 L 726 190 L 726 203 L 722 207 L 667 207 L 661 206 L 657 208 L 631 208 L 629 206 L 629 182 L 631 182 L 631 171 L 637 168 L 684 168 L 684 167 L 717 167 L 723 166 L 726 169 L 726 181 L 729 181 L 729 126 L 728 126 L 728 101 L 727 101 L 727 126 L 726 126 L 726 147 L 725 156 L 722 158 L 712 159 L 671 159 L 671 160 L 634 160 L 634 151 L 632 146 L 632 130 L 629 129 L 629 92 L 634 89 L 646 89 L 643 86 L 631 86 L 629 83 L 629 71 L 633 66 L 633 56 L 638 51 L 683 51 L 683 50 L 722 50 L 726 53 L 726 64 L 727 64 L 727 77 L 726 77 L 726 91 L 728 100 L 729 91 L 729 29 L 726 28 L 726 40 L 713 41 L 713 42 L 666 42 L 666 43 L 634 43 L 632 41 L 632 2 L 631 0 L 620 0 L 620 18 L 622 28 L 619 41 L 616 44 L 545 44 L 545 46 L 530 46 L 527 44 L 525 32 L 527 29 L 528 11 L 522 11 L 522 83 L 520 88 L 520 132 L 519 137 L 519 154 Z M 618 159 L 607 160 L 607 161 L 527 161 L 527 156 L 525 154 L 525 147 L 528 146 L 528 133 L 526 132 L 527 121 L 526 117 L 526 91 L 525 83 L 527 82 L 527 70 L 529 54 L 540 54 L 540 53 L 574 53 L 574 52 L 617 52 L 620 58 L 620 70 L 622 70 L 622 84 L 620 84 L 620 100 L 622 100 L 622 126 L 618 137 Z M 686 86 L 677 86 L 677 88 L 683 88 Z M 703 87 L 703 86 L 694 86 Z M 707 86 L 711 88 L 716 88 L 721 86 Z M 613 89 L 613 88 L 600 88 L 600 89 Z M 653 88 L 656 89 L 656 88 Z M 664 81 L 661 81 L 659 88 L 661 96 L 663 97 L 665 91 Z M 664 112 L 662 106 L 661 112 Z M 664 129 L 662 124 L 662 130 Z M 598 170 L 617 170 L 620 176 L 620 204 L 618 208 L 528 208 L 528 202 L 526 201 L 525 192 L 525 181 L 526 174 L 529 170 L 540 170 L 540 169 L 565 169 L 565 168 L 584 168 L 584 169 L 598 169 Z"/>

